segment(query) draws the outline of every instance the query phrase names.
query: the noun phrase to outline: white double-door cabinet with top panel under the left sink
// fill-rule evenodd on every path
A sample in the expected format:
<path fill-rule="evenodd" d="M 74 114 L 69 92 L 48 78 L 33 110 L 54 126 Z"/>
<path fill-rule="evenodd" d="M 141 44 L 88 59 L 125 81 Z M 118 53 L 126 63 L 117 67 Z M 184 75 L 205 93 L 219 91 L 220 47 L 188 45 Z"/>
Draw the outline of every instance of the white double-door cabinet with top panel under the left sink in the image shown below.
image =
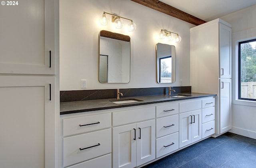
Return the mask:
<path fill-rule="evenodd" d="M 155 106 L 112 113 L 113 168 L 134 168 L 155 157 Z"/>

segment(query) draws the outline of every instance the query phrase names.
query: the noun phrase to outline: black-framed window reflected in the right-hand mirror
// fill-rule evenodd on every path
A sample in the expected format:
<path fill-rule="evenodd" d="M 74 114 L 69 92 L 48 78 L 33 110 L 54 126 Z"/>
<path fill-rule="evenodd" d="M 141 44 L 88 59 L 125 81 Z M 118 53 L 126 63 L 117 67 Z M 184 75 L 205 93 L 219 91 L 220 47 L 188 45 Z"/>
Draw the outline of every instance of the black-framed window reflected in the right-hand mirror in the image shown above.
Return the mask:
<path fill-rule="evenodd" d="M 172 56 L 166 56 L 159 58 L 160 64 L 160 79 L 159 83 L 171 83 L 172 82 Z"/>

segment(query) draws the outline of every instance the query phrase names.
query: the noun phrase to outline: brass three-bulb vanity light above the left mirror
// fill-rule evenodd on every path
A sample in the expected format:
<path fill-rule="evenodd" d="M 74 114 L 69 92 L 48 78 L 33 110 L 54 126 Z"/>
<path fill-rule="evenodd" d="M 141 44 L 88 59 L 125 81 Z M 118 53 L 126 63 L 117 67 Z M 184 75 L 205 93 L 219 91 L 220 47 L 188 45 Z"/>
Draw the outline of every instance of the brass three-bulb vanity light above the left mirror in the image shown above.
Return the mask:
<path fill-rule="evenodd" d="M 108 12 L 103 12 L 102 16 L 100 16 L 100 24 L 102 25 L 107 25 L 108 24 L 108 17 L 106 14 L 109 14 L 112 16 L 112 22 L 115 24 L 116 28 L 122 28 L 123 24 L 122 24 L 122 19 L 126 19 L 126 20 L 130 20 L 131 22 L 128 24 L 128 30 L 129 32 L 134 32 L 136 30 L 136 24 L 134 22 L 132 22 L 131 19 L 127 19 L 121 16 L 117 16 L 115 14 L 110 14 Z"/>

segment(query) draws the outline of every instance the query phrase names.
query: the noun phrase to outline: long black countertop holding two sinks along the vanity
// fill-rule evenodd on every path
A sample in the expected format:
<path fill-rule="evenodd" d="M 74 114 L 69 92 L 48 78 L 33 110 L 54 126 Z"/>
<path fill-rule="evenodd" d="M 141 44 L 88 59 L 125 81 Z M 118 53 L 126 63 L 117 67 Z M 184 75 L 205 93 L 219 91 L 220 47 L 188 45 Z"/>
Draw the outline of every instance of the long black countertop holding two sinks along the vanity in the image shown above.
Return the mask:
<path fill-rule="evenodd" d="M 173 94 L 172 96 L 174 95 L 176 94 Z M 176 98 L 168 95 L 156 95 L 156 96 L 136 96 L 136 97 L 130 97 L 130 98 L 120 98 L 120 100 L 127 100 L 127 99 L 143 100 L 139 102 L 124 103 L 124 104 L 115 104 L 111 102 L 113 100 L 116 100 L 114 98 L 74 101 L 74 102 L 61 102 L 60 115 L 72 114 L 72 113 L 78 113 L 78 112 L 88 112 L 88 111 L 95 111 L 95 110 L 106 110 L 106 109 L 112 109 L 112 108 L 139 106 L 139 105 L 154 104 L 154 103 L 161 103 L 161 102 L 172 102 L 177 100 L 187 100 L 187 99 L 202 98 L 202 97 L 208 97 L 208 96 L 216 96 L 216 94 L 203 94 L 203 93 L 179 93 L 179 95 L 187 95 L 187 96 Z"/>

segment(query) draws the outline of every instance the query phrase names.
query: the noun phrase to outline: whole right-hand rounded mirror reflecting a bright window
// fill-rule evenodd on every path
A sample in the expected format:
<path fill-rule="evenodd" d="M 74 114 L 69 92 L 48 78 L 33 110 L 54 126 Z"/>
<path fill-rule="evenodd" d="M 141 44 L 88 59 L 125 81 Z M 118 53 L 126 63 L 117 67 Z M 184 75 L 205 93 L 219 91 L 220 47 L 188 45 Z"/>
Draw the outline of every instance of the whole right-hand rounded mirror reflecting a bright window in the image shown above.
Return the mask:
<path fill-rule="evenodd" d="M 158 83 L 175 82 L 175 46 L 156 44 L 156 78 Z"/>

